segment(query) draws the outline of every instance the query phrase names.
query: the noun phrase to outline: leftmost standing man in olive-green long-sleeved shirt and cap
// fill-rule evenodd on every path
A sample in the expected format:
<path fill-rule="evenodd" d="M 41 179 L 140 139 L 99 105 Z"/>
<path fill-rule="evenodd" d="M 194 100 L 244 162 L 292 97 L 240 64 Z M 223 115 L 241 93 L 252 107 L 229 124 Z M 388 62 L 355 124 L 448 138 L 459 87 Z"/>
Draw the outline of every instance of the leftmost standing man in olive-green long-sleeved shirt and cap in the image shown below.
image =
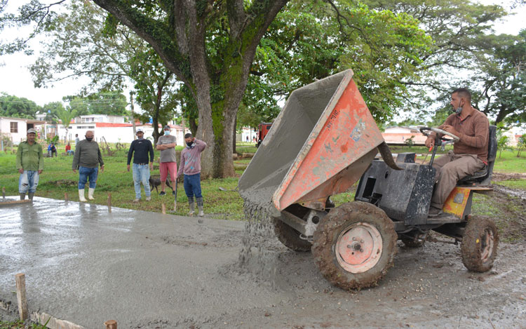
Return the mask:
<path fill-rule="evenodd" d="M 36 131 L 33 128 L 27 130 L 27 140 L 18 145 L 16 152 L 16 168 L 20 173 L 18 180 L 18 192 L 20 200 L 25 199 L 25 194 L 30 200 L 33 199 L 39 177 L 43 170 L 42 146 L 35 142 Z"/>

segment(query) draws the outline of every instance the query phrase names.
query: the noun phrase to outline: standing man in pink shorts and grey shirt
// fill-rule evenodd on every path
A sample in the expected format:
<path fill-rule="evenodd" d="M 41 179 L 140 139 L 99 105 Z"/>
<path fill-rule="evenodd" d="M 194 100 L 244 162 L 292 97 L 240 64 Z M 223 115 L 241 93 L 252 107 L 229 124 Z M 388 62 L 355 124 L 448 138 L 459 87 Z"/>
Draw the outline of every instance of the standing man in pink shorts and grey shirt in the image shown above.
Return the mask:
<path fill-rule="evenodd" d="M 166 177 L 170 172 L 170 180 L 175 183 L 177 179 L 177 159 L 175 159 L 175 145 L 177 145 L 177 139 L 175 136 L 170 135 L 170 126 L 164 126 L 164 135 L 159 137 L 157 140 L 157 149 L 161 151 L 159 156 L 159 172 L 161 173 L 161 193 L 159 195 L 166 195 L 164 189 L 166 189 Z M 175 191 L 172 191 L 175 194 Z"/>

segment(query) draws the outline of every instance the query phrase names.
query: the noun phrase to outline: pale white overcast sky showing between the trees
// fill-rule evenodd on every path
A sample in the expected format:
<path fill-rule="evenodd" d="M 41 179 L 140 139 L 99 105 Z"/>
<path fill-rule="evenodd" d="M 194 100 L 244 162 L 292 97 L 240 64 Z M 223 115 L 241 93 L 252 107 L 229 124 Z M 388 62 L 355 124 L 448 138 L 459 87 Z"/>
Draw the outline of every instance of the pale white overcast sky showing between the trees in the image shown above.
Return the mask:
<path fill-rule="evenodd" d="M 494 0 L 481 0 L 483 4 L 495 4 Z M 511 1 L 500 1 L 497 4 L 509 9 L 506 5 Z M 512 11 L 513 12 L 513 11 Z M 526 29 L 526 5 L 515 9 L 516 14 L 508 16 L 504 22 L 499 22 L 494 29 L 497 34 L 518 34 L 520 29 Z M 21 30 L 12 29 L 9 33 L 17 33 Z M 3 32 L 5 35 L 6 31 Z M 2 38 L 4 39 L 4 38 Z M 34 41 L 32 46 L 35 53 L 38 53 L 39 43 Z M 37 105 L 45 105 L 48 102 L 62 101 L 62 97 L 66 95 L 76 95 L 81 88 L 88 83 L 87 79 L 69 79 L 61 83 L 55 83 L 55 86 L 50 88 L 34 88 L 31 74 L 28 65 L 31 65 L 36 60 L 37 55 L 27 56 L 23 53 L 13 55 L 4 55 L 0 58 L 0 93 L 5 92 L 9 95 L 15 95 L 19 98 L 27 98 L 36 102 Z M 129 92 L 125 91 L 124 95 L 129 97 Z M 128 100 L 129 101 L 129 100 Z"/>

